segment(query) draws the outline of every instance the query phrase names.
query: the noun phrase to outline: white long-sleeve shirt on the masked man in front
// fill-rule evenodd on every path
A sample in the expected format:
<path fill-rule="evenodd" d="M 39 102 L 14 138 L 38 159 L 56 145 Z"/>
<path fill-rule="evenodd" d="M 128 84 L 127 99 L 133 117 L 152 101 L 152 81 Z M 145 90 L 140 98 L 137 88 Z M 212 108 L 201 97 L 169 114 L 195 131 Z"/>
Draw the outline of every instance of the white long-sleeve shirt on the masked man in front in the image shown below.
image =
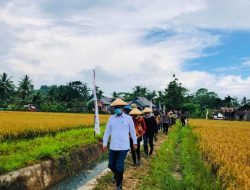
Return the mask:
<path fill-rule="evenodd" d="M 103 136 L 103 146 L 107 146 L 109 136 L 111 135 L 111 150 L 129 150 L 129 133 L 133 143 L 137 144 L 134 122 L 131 116 L 123 113 L 121 116 L 112 115 L 106 125 Z"/>

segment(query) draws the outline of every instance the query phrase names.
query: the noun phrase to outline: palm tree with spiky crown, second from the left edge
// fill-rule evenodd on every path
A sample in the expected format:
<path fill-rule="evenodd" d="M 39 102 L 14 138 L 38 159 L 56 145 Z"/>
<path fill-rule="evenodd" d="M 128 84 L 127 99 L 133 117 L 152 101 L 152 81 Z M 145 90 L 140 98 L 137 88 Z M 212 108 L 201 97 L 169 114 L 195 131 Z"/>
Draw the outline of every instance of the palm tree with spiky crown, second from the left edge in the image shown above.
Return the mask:
<path fill-rule="evenodd" d="M 19 82 L 18 92 L 21 94 L 21 99 L 25 100 L 28 95 L 33 91 L 32 80 L 28 75 L 25 75 L 24 78 Z"/>

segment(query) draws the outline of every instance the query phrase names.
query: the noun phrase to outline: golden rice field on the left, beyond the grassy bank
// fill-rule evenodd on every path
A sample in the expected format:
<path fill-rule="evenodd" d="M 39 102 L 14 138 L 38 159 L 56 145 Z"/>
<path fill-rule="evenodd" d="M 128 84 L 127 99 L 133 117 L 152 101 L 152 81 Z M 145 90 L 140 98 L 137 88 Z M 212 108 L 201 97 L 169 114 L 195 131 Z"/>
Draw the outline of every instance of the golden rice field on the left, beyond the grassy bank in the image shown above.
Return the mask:
<path fill-rule="evenodd" d="M 105 125 L 109 115 L 100 115 Z M 0 112 L 0 141 L 55 134 L 75 128 L 92 127 L 93 114 Z"/>

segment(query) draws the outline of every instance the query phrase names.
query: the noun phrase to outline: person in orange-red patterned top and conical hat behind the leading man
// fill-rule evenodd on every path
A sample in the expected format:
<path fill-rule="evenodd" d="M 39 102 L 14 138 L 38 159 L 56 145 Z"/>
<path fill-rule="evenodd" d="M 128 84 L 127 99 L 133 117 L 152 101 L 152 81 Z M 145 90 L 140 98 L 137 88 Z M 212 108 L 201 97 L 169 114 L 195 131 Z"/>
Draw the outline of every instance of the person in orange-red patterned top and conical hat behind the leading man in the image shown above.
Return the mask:
<path fill-rule="evenodd" d="M 142 115 L 142 112 L 137 109 L 136 104 L 131 104 L 131 107 L 133 108 L 129 115 L 132 116 L 134 124 L 135 124 L 135 131 L 137 136 L 137 149 L 133 149 L 133 139 L 130 137 L 130 147 L 131 147 L 131 154 L 132 154 L 132 160 L 133 165 L 132 166 L 139 166 L 141 164 L 141 151 L 140 151 L 140 144 L 142 141 L 142 136 L 146 131 L 146 124 L 144 122 Z"/>

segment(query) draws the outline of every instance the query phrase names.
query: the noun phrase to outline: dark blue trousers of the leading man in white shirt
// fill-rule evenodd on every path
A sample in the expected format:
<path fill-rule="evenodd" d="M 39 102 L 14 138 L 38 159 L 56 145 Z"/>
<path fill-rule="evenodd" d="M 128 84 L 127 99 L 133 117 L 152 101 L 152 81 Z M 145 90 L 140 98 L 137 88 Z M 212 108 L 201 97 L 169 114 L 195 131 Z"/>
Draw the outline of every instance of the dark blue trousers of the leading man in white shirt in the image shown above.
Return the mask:
<path fill-rule="evenodd" d="M 123 180 L 124 160 L 127 156 L 128 150 L 110 150 L 109 151 L 109 165 L 108 167 L 114 173 L 116 179 L 116 186 L 119 187 Z"/>

